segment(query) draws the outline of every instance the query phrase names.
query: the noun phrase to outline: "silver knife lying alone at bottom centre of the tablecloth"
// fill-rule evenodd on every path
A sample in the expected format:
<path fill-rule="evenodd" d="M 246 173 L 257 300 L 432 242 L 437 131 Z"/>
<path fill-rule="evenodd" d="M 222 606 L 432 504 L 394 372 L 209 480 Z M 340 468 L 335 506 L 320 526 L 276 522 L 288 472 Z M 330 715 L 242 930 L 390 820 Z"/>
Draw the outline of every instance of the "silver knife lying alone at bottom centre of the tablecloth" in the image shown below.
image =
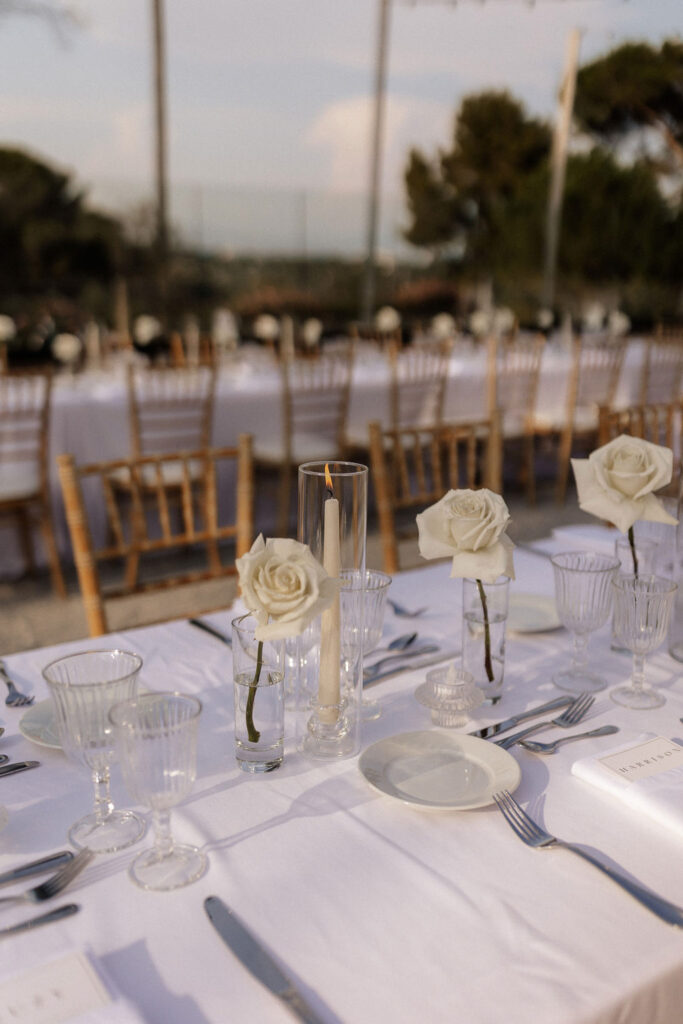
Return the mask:
<path fill-rule="evenodd" d="M 295 1017 L 305 1021 L 306 1024 L 323 1024 L 322 1017 L 318 1017 L 306 1002 L 291 978 L 278 967 L 270 953 L 218 896 L 207 897 L 204 900 L 204 909 L 223 942 L 230 947 L 238 959 L 262 985 L 270 989 L 273 995 L 282 999 Z"/>

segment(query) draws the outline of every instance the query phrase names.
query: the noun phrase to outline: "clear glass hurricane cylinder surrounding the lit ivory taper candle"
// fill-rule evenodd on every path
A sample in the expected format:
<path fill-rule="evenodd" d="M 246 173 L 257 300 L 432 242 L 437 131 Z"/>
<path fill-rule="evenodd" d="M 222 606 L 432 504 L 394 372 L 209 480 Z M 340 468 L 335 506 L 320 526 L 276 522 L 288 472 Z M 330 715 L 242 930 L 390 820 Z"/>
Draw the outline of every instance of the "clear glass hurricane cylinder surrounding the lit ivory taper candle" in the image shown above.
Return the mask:
<path fill-rule="evenodd" d="M 330 575 L 365 573 L 367 510 L 367 466 L 299 466 L 298 538 Z M 297 743 L 310 758 L 347 758 L 360 749 L 364 622 L 365 590 L 359 589 L 343 608 L 337 597 L 301 642 Z"/>

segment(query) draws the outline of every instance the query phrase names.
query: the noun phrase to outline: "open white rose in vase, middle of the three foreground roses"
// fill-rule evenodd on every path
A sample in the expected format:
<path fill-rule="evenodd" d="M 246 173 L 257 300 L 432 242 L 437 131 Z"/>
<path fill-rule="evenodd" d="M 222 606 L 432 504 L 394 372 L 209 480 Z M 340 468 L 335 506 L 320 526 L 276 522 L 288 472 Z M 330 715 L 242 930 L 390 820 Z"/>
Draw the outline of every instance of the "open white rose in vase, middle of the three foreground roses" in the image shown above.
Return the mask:
<path fill-rule="evenodd" d="M 493 490 L 449 490 L 417 517 L 420 554 L 453 556 L 452 577 L 514 580 L 514 545 L 505 534 L 509 519 L 507 505 Z"/>

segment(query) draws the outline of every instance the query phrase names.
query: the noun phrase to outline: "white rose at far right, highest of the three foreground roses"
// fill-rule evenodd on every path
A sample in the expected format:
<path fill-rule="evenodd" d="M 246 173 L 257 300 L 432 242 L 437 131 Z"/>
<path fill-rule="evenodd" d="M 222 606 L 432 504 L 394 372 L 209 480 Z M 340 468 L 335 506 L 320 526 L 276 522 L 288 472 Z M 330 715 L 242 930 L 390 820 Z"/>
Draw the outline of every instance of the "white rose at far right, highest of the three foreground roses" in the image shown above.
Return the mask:
<path fill-rule="evenodd" d="M 671 449 L 622 434 L 588 459 L 571 460 L 579 505 L 623 534 L 637 519 L 676 523 L 652 494 L 670 482 L 673 465 Z"/>

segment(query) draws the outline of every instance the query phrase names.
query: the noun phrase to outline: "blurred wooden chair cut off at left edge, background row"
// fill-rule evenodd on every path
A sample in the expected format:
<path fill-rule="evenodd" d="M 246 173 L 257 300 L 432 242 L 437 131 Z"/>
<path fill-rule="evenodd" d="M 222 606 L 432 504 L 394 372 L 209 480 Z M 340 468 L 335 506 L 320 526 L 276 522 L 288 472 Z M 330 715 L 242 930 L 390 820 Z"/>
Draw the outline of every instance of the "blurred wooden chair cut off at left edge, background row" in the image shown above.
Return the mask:
<path fill-rule="evenodd" d="M 0 518 L 16 522 L 30 570 L 35 568 L 32 527 L 37 521 L 52 587 L 66 597 L 47 472 L 51 389 L 51 374 L 0 377 Z"/>

